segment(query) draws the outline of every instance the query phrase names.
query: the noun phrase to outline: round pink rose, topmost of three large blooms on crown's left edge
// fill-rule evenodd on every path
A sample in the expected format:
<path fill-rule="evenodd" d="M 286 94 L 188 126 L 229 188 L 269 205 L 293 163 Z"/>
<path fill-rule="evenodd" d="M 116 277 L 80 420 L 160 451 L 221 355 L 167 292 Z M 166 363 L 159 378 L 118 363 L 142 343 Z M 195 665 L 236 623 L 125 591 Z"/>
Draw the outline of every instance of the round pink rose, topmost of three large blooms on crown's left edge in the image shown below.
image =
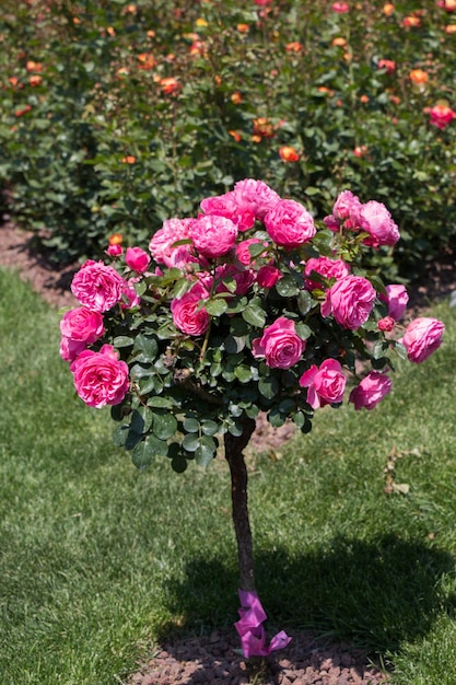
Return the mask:
<path fill-rule="evenodd" d="M 124 279 L 112 266 L 87 259 L 74 274 L 71 291 L 81 304 L 93 312 L 107 312 L 120 302 Z"/>

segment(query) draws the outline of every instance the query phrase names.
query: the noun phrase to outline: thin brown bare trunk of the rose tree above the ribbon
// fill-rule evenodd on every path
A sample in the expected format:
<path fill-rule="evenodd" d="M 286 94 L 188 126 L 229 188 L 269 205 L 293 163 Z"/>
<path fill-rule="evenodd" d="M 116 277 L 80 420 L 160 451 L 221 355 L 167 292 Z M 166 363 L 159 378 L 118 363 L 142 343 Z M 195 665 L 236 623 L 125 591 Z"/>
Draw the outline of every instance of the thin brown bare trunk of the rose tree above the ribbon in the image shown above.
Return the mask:
<path fill-rule="evenodd" d="M 247 591 L 255 590 L 255 574 L 254 550 L 247 506 L 247 468 L 243 451 L 247 446 L 254 430 L 255 420 L 245 418 L 244 430 L 241 436 L 235 437 L 231 433 L 225 433 L 224 436 L 225 458 L 230 465 L 231 473 L 231 499 L 233 524 L 237 543 L 239 588 Z"/>

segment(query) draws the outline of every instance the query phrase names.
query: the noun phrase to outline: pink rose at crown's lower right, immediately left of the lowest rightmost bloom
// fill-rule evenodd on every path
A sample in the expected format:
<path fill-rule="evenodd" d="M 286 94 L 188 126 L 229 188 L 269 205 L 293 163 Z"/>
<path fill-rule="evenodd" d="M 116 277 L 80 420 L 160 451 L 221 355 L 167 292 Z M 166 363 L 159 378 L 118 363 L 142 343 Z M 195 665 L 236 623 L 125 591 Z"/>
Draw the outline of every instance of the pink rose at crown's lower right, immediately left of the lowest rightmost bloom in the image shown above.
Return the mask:
<path fill-rule="evenodd" d="M 313 409 L 342 402 L 346 383 L 342 367 L 336 359 L 326 359 L 319 369 L 312 365 L 300 379 L 300 385 L 308 388 L 307 403 Z"/>

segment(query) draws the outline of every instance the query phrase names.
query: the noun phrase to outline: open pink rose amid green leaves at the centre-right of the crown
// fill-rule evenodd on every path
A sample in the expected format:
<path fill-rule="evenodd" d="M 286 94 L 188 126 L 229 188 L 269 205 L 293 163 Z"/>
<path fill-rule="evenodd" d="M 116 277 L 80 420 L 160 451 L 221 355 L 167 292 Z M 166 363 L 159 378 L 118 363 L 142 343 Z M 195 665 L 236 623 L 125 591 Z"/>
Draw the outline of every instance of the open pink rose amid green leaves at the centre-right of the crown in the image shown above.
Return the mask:
<path fill-rule="evenodd" d="M 296 334 L 294 322 L 284 316 L 267 326 L 262 337 L 255 338 L 252 345 L 254 357 L 265 357 L 271 369 L 290 369 L 305 350 L 305 340 Z"/>

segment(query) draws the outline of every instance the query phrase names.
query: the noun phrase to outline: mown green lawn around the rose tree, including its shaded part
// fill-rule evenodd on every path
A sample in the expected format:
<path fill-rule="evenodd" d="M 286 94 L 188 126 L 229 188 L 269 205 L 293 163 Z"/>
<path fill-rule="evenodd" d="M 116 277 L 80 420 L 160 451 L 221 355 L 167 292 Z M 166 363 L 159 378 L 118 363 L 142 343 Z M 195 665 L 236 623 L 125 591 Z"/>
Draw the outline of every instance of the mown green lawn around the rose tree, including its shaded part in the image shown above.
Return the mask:
<path fill-rule="evenodd" d="M 114 685 L 176 630 L 237 619 L 221 461 L 138 473 L 74 395 L 59 315 L 0 270 L 0 681 Z M 396 685 L 456 681 L 456 325 L 372 413 L 318 413 L 279 461 L 249 454 L 268 630 L 365 646 Z M 384 491 L 385 467 L 408 495 Z"/>

